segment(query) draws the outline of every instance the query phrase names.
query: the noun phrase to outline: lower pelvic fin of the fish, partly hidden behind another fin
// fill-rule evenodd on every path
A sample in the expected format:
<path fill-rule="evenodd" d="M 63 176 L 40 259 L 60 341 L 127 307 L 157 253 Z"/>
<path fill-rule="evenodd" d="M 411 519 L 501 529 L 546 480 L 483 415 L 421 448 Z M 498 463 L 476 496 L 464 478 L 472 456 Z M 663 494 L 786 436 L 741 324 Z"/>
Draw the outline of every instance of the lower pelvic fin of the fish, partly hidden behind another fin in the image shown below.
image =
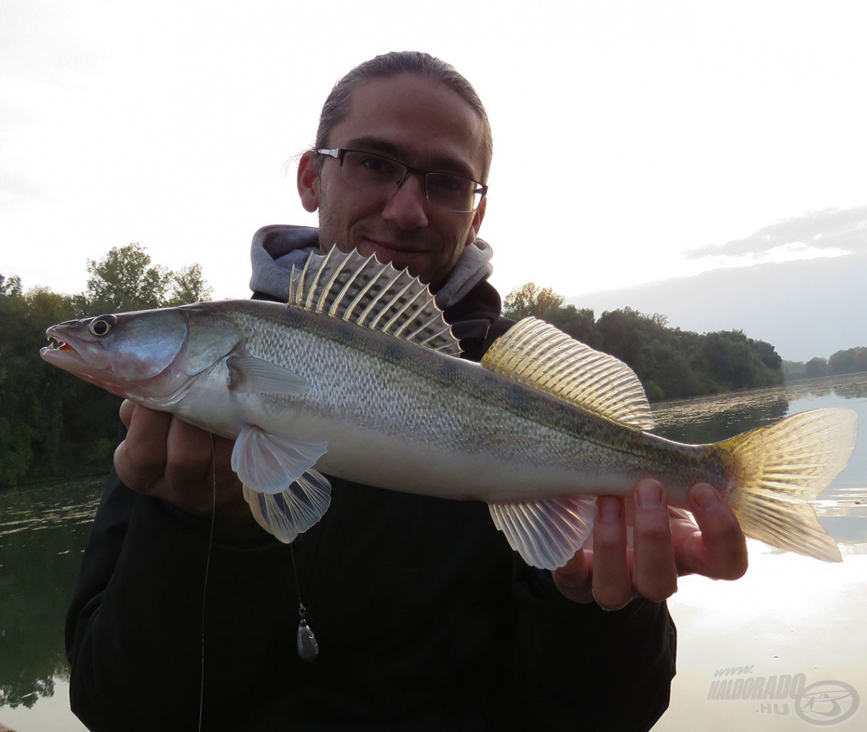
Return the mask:
<path fill-rule="evenodd" d="M 265 531 L 290 544 L 328 511 L 331 485 L 322 473 L 310 470 L 279 493 L 259 493 L 244 485 L 244 500 Z"/>

